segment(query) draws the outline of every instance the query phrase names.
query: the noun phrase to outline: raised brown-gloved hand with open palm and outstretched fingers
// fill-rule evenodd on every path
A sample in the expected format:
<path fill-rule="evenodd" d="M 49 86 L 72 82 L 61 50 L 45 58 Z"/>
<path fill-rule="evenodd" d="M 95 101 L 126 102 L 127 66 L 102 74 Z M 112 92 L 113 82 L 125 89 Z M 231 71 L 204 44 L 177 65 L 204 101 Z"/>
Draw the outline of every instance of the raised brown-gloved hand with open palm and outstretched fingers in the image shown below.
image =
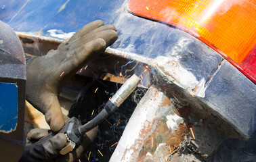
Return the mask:
<path fill-rule="evenodd" d="M 114 43 L 117 33 L 113 25 L 97 20 L 84 26 L 47 55 L 26 61 L 26 100 L 45 114 L 51 130 L 58 132 L 64 119 L 58 101 L 62 86 L 91 59 Z"/>

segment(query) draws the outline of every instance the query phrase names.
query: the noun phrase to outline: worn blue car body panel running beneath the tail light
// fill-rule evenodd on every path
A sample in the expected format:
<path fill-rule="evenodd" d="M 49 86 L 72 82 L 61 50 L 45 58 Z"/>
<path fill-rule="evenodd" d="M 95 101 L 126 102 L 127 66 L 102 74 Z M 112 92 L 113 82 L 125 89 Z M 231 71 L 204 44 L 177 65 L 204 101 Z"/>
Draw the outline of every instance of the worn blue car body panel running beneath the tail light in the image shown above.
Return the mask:
<path fill-rule="evenodd" d="M 127 2 L 4 0 L 0 2 L 0 20 L 17 32 L 62 41 L 93 20 L 114 24 L 119 38 L 110 49 L 150 59 L 157 67 L 164 67 L 166 63 L 161 61 L 169 60 L 165 68 L 173 70 L 166 73 L 171 82 L 234 126 L 235 137 L 248 139 L 256 129 L 255 84 L 194 36 L 129 14 Z"/>

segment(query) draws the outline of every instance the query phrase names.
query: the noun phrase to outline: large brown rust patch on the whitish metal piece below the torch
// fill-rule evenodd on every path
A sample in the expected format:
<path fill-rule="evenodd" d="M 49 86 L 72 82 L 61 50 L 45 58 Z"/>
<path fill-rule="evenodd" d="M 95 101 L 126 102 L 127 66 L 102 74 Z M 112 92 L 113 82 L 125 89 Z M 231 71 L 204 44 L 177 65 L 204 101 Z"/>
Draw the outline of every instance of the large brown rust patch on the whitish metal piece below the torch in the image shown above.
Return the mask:
<path fill-rule="evenodd" d="M 135 144 L 131 148 L 125 150 L 124 155 L 132 150 L 131 157 L 133 159 L 136 159 L 136 161 L 145 161 L 147 159 L 147 153 L 154 155 L 157 145 L 160 143 L 167 144 L 166 151 L 168 155 L 170 154 L 170 148 L 171 153 L 174 153 L 184 136 L 190 131 L 190 125 L 185 123 L 180 124 L 179 128 L 175 132 L 172 132 L 167 127 L 164 119 L 155 119 L 152 122 L 148 121 L 148 124 L 145 124 L 144 129 L 141 131 L 140 138 L 135 141 Z"/>

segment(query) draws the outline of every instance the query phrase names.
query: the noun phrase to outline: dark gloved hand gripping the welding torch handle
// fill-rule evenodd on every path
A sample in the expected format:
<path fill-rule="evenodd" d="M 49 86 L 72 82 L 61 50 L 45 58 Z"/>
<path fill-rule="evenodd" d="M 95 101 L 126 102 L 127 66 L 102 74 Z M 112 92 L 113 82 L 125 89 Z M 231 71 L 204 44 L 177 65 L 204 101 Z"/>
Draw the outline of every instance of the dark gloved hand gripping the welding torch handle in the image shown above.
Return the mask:
<path fill-rule="evenodd" d="M 93 128 L 93 130 L 87 132 L 83 136 L 83 142 L 80 146 L 76 146 L 74 150 L 66 155 L 60 155 L 60 151 L 67 144 L 66 136 L 62 133 L 56 134 L 56 136 L 41 142 L 40 144 L 35 142 L 44 136 L 47 136 L 49 130 L 36 128 L 28 132 L 28 146 L 25 147 L 25 150 L 20 158 L 19 162 L 40 162 L 40 161 L 78 161 L 81 157 L 83 151 L 93 142 L 95 136 L 98 132 L 98 127 Z"/>

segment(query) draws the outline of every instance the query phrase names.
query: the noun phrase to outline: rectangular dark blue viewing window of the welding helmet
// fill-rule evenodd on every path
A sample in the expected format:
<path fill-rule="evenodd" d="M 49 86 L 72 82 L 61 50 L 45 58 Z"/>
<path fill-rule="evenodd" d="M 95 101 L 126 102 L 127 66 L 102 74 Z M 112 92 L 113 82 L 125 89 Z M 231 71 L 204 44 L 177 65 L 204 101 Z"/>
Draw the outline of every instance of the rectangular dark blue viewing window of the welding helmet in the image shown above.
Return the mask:
<path fill-rule="evenodd" d="M 18 87 L 0 82 L 0 132 L 16 129 L 18 123 Z"/>

